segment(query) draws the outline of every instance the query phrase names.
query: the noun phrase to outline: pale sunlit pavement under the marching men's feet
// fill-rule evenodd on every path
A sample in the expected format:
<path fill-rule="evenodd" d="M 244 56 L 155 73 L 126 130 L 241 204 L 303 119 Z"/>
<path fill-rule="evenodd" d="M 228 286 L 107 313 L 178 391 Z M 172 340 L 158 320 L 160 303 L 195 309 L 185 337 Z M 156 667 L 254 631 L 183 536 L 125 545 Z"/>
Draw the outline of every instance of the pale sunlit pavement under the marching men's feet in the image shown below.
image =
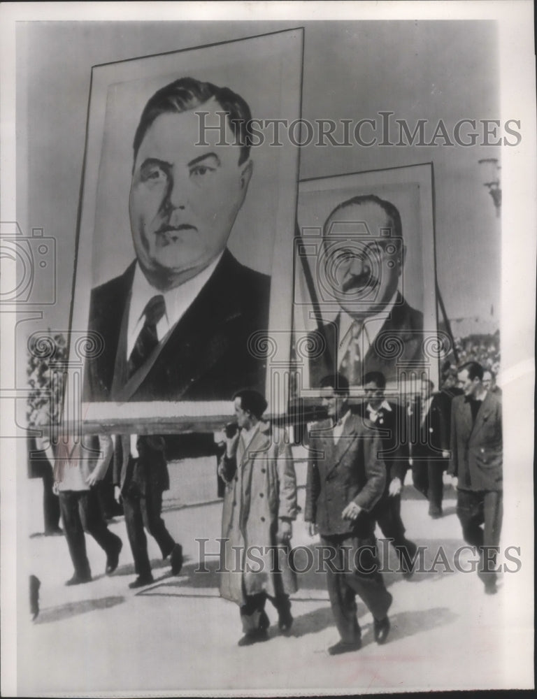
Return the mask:
<path fill-rule="evenodd" d="M 337 657 L 327 654 L 338 633 L 324 575 L 310 571 L 299 577 L 290 635 L 278 632 L 277 614 L 268 604 L 272 624 L 268 642 L 238 647 L 242 635 L 238 607 L 218 596 L 217 559 L 207 557 L 208 572 L 196 572 L 200 556 L 195 539 L 208 539 L 206 551 L 217 551 L 214 539 L 220 536 L 222 505 L 178 505 L 174 495 L 174 488 L 176 494 L 180 492 L 178 474 L 171 473 L 175 485 L 164 518 L 185 551 L 185 565 L 178 577 L 171 576 L 168 562 L 159 560 L 159 549 L 149 538 L 155 583 L 142 591 L 128 589 L 134 568 L 121 517 L 110 525 L 124 542 L 113 576 L 103 575 L 105 556 L 87 537 L 94 575 L 89 584 L 64 586 L 72 568 L 63 537 L 21 537 L 28 556 L 20 556 L 19 579 L 26 584 L 30 573 L 41 579 L 41 613 L 36 622 L 29 621 L 27 592 L 19 596 L 17 676 L 21 695 L 64 692 L 77 696 L 120 690 L 132 696 L 136 691 L 194 693 L 203 689 L 210 693 L 263 689 L 374 693 L 529 686 L 531 670 L 521 665 L 520 649 L 532 647 L 533 613 L 524 622 L 517 612 L 520 605 L 515 605 L 514 613 L 508 605 L 521 580 L 504 573 L 496 596 L 486 596 L 475 573 L 444 572 L 438 559 L 436 572 L 417 572 L 410 582 L 399 572 L 385 575 L 394 603 L 389 612 L 392 631 L 384 646 L 373 640 L 371 614 L 359 603 L 361 651 Z M 298 466 L 297 473 L 303 483 L 303 467 Z M 40 488 L 41 482 L 27 481 L 31 506 L 26 526 L 30 533 L 42 526 Z M 301 487 L 302 506 L 303 498 Z M 453 554 L 463 543 L 454 505 L 454 491 L 448 488 L 445 516 L 431 520 L 425 500 L 413 487 L 406 487 L 403 520 L 409 538 L 427 547 L 426 570 L 431 568 L 438 545 L 453 567 Z M 293 545 L 315 546 L 301 519 L 294 527 Z M 461 563 L 466 565 L 471 558 L 466 552 Z M 396 565 L 393 552 L 389 561 Z"/>

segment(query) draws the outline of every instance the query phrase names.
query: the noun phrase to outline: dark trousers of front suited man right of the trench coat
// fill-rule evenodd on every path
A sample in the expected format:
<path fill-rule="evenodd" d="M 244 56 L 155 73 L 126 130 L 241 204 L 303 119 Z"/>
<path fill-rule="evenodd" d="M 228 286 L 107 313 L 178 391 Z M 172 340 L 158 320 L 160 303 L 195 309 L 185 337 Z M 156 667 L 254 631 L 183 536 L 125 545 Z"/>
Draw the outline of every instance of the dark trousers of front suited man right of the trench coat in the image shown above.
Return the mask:
<path fill-rule="evenodd" d="M 355 597 L 358 595 L 374 619 L 385 619 L 392 595 L 378 571 L 374 535 L 321 535 L 323 547 L 332 549 L 330 561 L 324 556 L 330 605 L 341 640 L 354 643 L 361 636 Z"/>

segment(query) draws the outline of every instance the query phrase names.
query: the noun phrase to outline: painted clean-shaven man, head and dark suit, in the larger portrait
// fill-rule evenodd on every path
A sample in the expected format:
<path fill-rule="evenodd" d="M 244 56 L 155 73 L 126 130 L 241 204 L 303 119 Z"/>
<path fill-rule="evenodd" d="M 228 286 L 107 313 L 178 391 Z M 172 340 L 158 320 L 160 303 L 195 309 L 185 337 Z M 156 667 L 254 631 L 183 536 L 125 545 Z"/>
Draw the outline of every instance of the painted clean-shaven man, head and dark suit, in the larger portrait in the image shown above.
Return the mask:
<path fill-rule="evenodd" d="M 200 132 L 199 112 L 211 128 Z M 180 78 L 146 103 L 133 143 L 129 219 L 136 259 L 92 289 L 85 401 L 228 400 L 264 389 L 252 333 L 268 329 L 271 280 L 227 248 L 254 169 L 248 103 Z M 220 128 L 215 128 L 215 124 Z"/>

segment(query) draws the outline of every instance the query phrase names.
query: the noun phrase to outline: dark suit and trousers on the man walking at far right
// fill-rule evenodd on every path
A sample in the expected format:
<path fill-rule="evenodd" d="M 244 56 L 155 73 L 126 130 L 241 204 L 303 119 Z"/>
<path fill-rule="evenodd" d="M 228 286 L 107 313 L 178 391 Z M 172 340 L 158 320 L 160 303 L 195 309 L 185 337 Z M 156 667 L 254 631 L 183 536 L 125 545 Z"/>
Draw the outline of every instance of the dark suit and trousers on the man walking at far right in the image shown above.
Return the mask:
<path fill-rule="evenodd" d="M 494 552 L 503 516 L 503 439 L 501 399 L 491 391 L 478 407 L 475 421 L 471 401 L 466 396 L 453 399 L 449 473 L 458 480 L 462 535 L 466 543 L 480 547 L 479 575 L 485 589 L 494 589 Z"/>

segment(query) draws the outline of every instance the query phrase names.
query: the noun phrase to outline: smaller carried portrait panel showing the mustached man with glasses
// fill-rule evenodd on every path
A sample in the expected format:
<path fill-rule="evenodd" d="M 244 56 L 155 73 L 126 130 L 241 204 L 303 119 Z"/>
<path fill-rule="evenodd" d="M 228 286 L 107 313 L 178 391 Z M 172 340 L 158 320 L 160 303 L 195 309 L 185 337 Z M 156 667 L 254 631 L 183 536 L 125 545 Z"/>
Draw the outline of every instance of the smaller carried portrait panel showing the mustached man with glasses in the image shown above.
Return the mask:
<path fill-rule="evenodd" d="M 302 397 L 340 373 L 351 395 L 382 372 L 438 387 L 432 164 L 301 180 L 294 331 Z M 447 344 L 448 341 L 447 341 Z"/>

